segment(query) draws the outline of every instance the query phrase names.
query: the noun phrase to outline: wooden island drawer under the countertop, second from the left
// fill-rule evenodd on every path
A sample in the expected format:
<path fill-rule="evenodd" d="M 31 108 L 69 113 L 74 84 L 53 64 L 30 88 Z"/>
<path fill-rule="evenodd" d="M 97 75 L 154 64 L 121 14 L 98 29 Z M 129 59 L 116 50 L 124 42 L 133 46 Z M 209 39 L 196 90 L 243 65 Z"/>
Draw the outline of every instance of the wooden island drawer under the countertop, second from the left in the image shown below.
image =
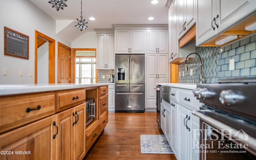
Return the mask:
<path fill-rule="evenodd" d="M 85 89 L 56 92 L 56 112 L 85 102 Z"/>

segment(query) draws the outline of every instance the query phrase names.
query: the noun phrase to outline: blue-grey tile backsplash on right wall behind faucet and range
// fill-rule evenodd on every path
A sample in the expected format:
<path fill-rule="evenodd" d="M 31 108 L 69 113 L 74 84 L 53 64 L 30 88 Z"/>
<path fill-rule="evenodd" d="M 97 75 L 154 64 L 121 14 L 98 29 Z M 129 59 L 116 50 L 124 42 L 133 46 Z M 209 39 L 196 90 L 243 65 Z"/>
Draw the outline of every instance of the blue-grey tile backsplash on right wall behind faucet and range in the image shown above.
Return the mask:
<path fill-rule="evenodd" d="M 256 76 L 256 35 L 225 47 L 196 47 L 196 52 L 202 57 L 204 83 L 217 83 L 222 77 Z M 229 70 L 230 59 L 234 59 L 234 70 Z M 180 64 L 179 82 L 192 83 L 196 80 L 199 83 L 199 58 L 187 64 L 196 65 L 188 66 L 188 71 L 185 71 L 185 64 Z M 190 69 L 193 70 L 192 76 Z"/>

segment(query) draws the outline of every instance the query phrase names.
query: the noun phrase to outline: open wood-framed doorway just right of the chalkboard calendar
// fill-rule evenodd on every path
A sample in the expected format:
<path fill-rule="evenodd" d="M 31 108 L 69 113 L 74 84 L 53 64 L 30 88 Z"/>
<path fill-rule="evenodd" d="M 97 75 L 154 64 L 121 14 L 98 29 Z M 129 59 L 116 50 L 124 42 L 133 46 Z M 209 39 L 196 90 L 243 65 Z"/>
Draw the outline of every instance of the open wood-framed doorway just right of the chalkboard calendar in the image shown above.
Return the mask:
<path fill-rule="evenodd" d="M 40 68 L 38 68 L 38 64 L 41 63 L 39 58 L 42 57 L 41 55 L 38 56 L 38 51 L 40 52 L 38 48 L 44 46 L 45 44 L 47 45 L 46 42 L 48 42 L 48 69 L 45 68 L 45 66 L 44 68 L 42 68 L 41 66 Z M 44 50 L 47 50 L 47 47 Z M 55 83 L 55 40 L 35 30 L 35 84 L 38 84 L 38 74 L 41 74 L 42 70 L 46 71 L 46 74 L 48 71 L 48 83 Z"/>

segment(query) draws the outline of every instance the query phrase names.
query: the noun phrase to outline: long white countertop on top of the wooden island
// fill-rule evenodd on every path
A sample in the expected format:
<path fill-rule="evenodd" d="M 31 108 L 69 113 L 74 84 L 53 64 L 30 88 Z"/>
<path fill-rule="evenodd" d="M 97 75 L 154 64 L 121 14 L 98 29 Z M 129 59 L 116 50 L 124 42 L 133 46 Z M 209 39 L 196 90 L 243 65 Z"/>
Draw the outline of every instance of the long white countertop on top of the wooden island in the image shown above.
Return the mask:
<path fill-rule="evenodd" d="M 0 85 L 0 96 L 11 94 L 46 92 L 53 90 L 66 90 L 94 86 L 105 86 L 114 83 L 95 83 L 95 84 L 3 84 Z"/>

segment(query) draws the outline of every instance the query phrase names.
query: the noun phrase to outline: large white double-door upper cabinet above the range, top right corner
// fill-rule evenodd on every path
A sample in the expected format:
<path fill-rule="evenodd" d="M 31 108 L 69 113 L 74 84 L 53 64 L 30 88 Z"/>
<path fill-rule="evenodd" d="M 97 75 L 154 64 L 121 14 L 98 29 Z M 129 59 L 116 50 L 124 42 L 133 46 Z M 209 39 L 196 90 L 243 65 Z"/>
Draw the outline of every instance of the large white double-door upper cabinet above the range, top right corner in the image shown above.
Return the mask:
<path fill-rule="evenodd" d="M 196 46 L 256 11 L 255 0 L 197 0 Z"/>

